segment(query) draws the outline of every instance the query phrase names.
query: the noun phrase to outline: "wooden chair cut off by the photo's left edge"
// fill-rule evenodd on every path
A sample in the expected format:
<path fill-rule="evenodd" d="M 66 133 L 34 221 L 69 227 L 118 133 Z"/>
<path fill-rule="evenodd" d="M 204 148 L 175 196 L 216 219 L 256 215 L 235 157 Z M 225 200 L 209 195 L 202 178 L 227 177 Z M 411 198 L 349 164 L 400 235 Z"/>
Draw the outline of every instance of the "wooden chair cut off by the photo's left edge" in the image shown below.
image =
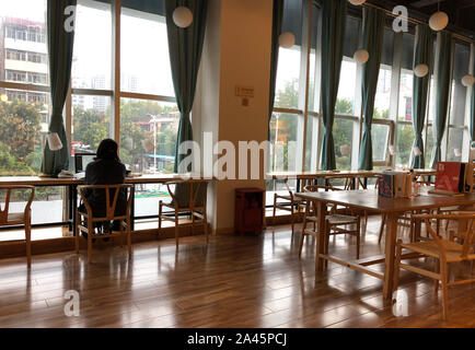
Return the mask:
<path fill-rule="evenodd" d="M 23 212 L 9 212 L 10 200 L 13 191 L 30 191 L 28 200 Z M 0 192 L 5 191 L 3 210 L 0 208 L 0 226 L 25 226 L 26 261 L 32 266 L 32 202 L 35 197 L 34 186 L 0 186 Z"/>

